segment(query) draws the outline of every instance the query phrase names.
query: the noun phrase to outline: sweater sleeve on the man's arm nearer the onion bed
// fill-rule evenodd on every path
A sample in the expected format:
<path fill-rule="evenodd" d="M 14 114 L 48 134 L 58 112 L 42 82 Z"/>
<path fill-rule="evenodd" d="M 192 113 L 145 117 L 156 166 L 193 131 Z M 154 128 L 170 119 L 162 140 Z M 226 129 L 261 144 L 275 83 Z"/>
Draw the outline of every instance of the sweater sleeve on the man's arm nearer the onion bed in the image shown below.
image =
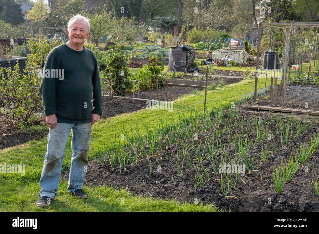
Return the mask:
<path fill-rule="evenodd" d="M 94 55 L 95 68 L 92 76 L 93 83 L 93 114 L 102 115 L 102 93 L 101 93 L 101 83 L 100 83 L 100 73 L 98 68 L 98 62 Z"/>

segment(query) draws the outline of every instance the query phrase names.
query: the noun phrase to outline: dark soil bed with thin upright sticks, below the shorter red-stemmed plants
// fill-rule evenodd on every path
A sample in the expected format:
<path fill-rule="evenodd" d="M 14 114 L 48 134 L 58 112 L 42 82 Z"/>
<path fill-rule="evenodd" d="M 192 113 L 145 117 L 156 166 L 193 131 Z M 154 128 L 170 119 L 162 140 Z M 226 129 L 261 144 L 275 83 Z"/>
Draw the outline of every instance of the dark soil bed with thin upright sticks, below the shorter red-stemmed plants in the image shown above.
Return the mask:
<path fill-rule="evenodd" d="M 203 90 L 201 88 L 201 90 Z M 196 88 L 191 87 L 182 87 L 182 86 L 167 86 L 167 101 L 173 101 L 179 98 L 180 96 L 184 94 L 189 94 L 193 92 L 194 90 L 198 90 Z M 125 97 L 133 97 L 133 93 L 128 93 L 125 95 Z M 158 96 L 157 96 L 157 90 L 156 89 L 150 89 L 150 97 L 148 97 L 148 90 L 140 92 L 139 98 L 143 99 L 154 99 L 154 100 L 165 100 L 166 98 L 166 85 L 162 88 L 158 89 Z M 134 98 L 137 98 L 137 93 L 134 93 Z"/>

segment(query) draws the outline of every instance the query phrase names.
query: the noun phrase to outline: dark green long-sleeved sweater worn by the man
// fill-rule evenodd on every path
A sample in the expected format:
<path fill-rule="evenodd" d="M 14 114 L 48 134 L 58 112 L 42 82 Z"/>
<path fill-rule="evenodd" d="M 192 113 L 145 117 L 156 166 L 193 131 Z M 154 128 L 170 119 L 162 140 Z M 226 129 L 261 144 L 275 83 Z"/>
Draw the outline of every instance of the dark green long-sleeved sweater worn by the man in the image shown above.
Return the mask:
<path fill-rule="evenodd" d="M 100 75 L 94 53 L 87 48 L 73 50 L 66 44 L 53 48 L 45 61 L 40 93 L 44 114 L 56 114 L 58 123 L 89 123 L 92 113 L 102 115 Z"/>

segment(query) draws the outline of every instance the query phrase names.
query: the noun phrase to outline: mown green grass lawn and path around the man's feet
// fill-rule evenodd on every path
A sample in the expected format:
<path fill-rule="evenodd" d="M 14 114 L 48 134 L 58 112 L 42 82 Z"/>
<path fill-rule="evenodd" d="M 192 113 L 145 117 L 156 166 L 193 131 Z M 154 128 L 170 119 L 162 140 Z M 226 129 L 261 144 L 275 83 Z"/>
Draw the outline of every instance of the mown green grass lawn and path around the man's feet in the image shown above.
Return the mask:
<path fill-rule="evenodd" d="M 259 80 L 258 88 L 263 88 L 264 79 Z M 247 79 L 239 83 L 233 83 L 222 88 L 207 91 L 207 108 L 213 106 L 222 107 L 235 102 L 243 94 L 254 90 L 254 79 Z M 139 128 L 145 133 L 145 125 L 158 123 L 159 117 L 166 122 L 172 123 L 172 116 L 175 121 L 183 111 L 192 111 L 204 108 L 204 91 L 184 95 L 173 104 L 173 112 L 167 110 L 138 110 L 136 112 L 102 119 L 94 124 L 89 161 L 96 158 L 99 153 L 104 152 L 105 142 L 113 141 L 116 130 L 129 130 Z M 70 168 L 71 145 L 69 138 L 63 159 L 63 169 Z M 76 200 L 67 191 L 67 183 L 60 182 L 56 199 L 48 208 L 35 207 L 39 198 L 39 180 L 46 153 L 47 138 L 37 141 L 29 141 L 0 150 L 0 164 L 26 164 L 26 175 L 1 174 L 0 175 L 0 211 L 216 211 L 211 204 L 181 204 L 173 200 L 152 199 L 149 197 L 137 197 L 128 191 L 119 191 L 107 186 L 85 187 L 89 199 Z M 98 195 L 98 197 L 96 197 Z M 124 200 L 123 200 L 124 199 Z M 121 203 L 121 201 L 124 201 Z"/>

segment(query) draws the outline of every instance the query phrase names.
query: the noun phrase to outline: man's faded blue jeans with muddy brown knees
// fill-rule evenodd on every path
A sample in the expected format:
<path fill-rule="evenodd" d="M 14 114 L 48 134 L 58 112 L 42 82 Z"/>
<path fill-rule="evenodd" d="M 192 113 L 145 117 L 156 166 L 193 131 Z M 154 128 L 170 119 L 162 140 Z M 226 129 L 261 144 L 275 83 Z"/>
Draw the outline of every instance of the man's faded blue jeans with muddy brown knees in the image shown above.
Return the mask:
<path fill-rule="evenodd" d="M 66 143 L 72 131 L 72 159 L 67 191 L 73 193 L 78 188 L 83 188 L 84 177 L 87 171 L 87 152 L 90 150 L 92 134 L 91 123 L 64 124 L 57 123 L 49 129 L 47 153 L 41 173 L 40 197 L 54 198 L 59 188 L 59 179 L 62 170 L 62 160 Z"/>

